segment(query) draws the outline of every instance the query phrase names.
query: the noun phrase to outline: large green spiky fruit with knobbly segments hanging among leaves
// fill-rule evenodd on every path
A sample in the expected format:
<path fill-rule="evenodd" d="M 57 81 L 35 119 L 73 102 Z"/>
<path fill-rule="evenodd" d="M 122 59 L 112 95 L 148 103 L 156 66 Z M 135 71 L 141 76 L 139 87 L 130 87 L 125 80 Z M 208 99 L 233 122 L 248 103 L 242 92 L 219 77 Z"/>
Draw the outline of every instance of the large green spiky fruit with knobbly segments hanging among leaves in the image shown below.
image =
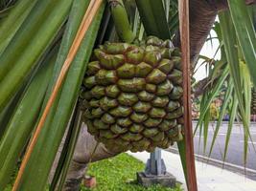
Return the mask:
<path fill-rule="evenodd" d="M 83 80 L 83 119 L 107 149 L 151 152 L 182 138 L 181 59 L 170 40 L 106 42 L 93 60 Z"/>

